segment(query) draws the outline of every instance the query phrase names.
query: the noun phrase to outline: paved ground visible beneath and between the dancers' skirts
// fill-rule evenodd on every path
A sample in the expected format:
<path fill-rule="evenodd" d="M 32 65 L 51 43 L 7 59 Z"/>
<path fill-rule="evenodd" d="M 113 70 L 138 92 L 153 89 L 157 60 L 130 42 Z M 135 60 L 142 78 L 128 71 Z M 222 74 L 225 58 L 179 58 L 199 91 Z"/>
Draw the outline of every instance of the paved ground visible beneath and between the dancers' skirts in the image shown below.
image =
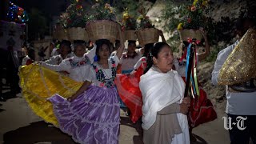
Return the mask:
<path fill-rule="evenodd" d="M 2 106 L 1 106 L 2 105 Z M 222 116 L 224 103 L 218 104 L 218 119 L 198 126 L 193 133 L 198 138 L 197 144 L 229 143 L 228 132 L 223 128 Z M 69 135 L 47 124 L 35 115 L 21 94 L 17 98 L 0 102 L 0 143 L 5 144 L 65 144 L 74 143 Z M 121 144 L 142 143 L 141 123 L 132 124 L 121 110 Z"/>

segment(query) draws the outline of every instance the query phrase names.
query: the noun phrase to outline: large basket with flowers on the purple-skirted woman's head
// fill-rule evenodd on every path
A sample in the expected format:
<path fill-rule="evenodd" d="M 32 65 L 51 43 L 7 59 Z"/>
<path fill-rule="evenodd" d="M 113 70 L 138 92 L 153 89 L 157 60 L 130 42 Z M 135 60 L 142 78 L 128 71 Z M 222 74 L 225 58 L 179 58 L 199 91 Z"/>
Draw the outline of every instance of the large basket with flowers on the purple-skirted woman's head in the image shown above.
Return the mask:
<path fill-rule="evenodd" d="M 90 10 L 88 20 L 86 30 L 91 40 L 108 39 L 114 42 L 117 39 L 118 23 L 114 7 L 110 4 L 96 3 Z"/>

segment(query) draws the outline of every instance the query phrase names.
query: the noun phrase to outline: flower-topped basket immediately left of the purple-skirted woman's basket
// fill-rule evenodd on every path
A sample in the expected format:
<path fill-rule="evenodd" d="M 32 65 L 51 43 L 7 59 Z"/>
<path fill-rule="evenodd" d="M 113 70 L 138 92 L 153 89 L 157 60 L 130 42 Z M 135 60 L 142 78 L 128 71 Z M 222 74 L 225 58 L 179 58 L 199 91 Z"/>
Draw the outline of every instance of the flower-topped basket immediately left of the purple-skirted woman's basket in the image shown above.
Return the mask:
<path fill-rule="evenodd" d="M 86 10 L 79 0 L 74 0 L 60 16 L 60 22 L 67 30 L 70 40 L 89 40 L 85 30 L 86 21 Z"/>

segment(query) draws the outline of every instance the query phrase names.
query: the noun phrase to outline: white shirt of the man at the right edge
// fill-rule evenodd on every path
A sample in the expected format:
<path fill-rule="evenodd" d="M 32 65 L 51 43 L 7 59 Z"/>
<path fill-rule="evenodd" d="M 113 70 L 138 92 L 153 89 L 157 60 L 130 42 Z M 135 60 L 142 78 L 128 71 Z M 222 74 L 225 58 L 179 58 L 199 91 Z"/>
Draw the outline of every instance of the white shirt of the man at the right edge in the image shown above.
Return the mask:
<path fill-rule="evenodd" d="M 224 62 L 234 50 L 234 47 L 238 45 L 238 41 L 233 45 L 226 47 L 218 53 L 218 57 L 214 64 L 214 70 L 212 72 L 211 81 L 214 85 L 218 85 L 218 74 L 222 68 Z M 226 86 L 226 113 L 235 115 L 256 115 L 256 92 L 253 93 L 232 93 Z"/>

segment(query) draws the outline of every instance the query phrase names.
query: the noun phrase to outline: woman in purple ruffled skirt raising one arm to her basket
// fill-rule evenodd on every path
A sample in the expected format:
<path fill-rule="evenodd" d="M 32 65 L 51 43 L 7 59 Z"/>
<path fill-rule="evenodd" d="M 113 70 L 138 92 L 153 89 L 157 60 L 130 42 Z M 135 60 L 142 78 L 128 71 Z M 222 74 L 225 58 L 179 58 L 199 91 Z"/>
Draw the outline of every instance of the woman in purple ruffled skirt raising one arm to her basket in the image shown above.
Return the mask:
<path fill-rule="evenodd" d="M 121 29 L 119 29 L 121 34 Z M 124 50 L 123 38 L 117 54 L 110 58 L 110 42 L 96 41 L 98 62 L 80 89 L 70 98 L 56 94 L 54 105 L 60 129 L 79 143 L 118 143 L 120 107 L 114 87 L 116 66 Z"/>

